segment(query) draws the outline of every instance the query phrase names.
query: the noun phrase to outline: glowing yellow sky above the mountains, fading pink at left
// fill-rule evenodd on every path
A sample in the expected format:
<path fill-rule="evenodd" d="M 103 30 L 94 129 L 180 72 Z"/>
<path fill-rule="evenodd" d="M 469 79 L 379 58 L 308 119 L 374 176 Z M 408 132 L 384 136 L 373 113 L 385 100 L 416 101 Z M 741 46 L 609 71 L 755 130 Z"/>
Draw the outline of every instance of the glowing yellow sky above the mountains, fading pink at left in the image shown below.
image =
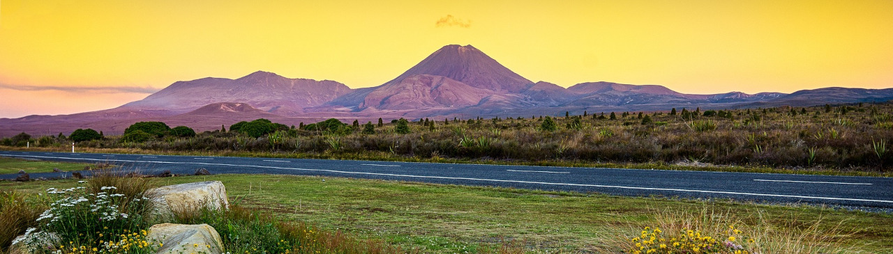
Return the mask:
<path fill-rule="evenodd" d="M 102 110 L 147 95 L 135 88 L 255 70 L 378 86 L 450 44 L 559 86 L 893 87 L 886 0 L 0 0 L 0 117 Z"/>

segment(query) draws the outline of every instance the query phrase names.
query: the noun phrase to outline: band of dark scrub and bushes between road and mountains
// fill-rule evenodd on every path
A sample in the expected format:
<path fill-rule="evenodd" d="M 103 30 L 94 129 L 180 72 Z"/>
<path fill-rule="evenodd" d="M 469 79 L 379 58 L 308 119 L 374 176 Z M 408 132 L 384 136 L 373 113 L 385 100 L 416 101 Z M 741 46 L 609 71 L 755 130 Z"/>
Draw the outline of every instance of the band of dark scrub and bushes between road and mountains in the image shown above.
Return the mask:
<path fill-rule="evenodd" d="M 77 143 L 90 152 L 509 163 L 889 176 L 893 103 L 731 111 L 568 112 L 494 119 L 338 119 L 286 126 L 267 119 L 195 134 L 140 122 Z M 66 151 L 64 135 L 0 144 Z M 4 149 L 15 149 L 5 147 Z"/>

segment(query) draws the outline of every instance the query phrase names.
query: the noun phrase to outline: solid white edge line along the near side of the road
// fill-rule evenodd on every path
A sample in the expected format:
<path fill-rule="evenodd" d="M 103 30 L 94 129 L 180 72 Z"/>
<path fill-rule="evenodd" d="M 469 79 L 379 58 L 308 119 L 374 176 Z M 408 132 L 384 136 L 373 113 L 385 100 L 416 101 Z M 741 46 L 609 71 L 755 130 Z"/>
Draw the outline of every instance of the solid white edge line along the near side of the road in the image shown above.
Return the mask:
<path fill-rule="evenodd" d="M 2 156 L 8 156 L 8 155 L 2 155 Z M 102 159 L 50 157 L 50 156 L 34 156 L 34 155 L 19 155 L 19 157 L 34 157 L 34 158 L 64 159 L 64 160 L 102 160 Z M 766 194 L 766 193 L 736 193 L 736 192 L 722 192 L 722 191 L 704 191 L 704 190 L 688 190 L 688 189 L 673 189 L 673 188 L 651 188 L 651 187 L 601 185 L 601 184 L 566 184 L 566 183 L 548 183 L 548 182 L 501 180 L 501 179 L 472 178 L 472 177 L 414 176 L 414 175 L 403 175 L 403 174 L 369 173 L 369 172 L 342 171 L 342 170 L 331 170 L 331 169 L 284 168 L 284 167 L 272 167 L 272 166 L 238 165 L 238 164 L 207 163 L 207 162 L 172 162 L 172 161 L 140 161 L 140 160 L 104 160 L 104 161 L 163 163 L 163 164 L 194 164 L 194 165 L 212 165 L 212 166 L 246 167 L 246 168 L 273 168 L 273 169 L 290 169 L 290 170 L 301 170 L 301 171 L 330 172 L 330 173 L 338 173 L 338 174 L 355 174 L 355 175 L 369 175 L 369 176 L 398 176 L 398 177 L 413 177 L 413 178 L 469 180 L 469 181 L 497 182 L 497 183 L 544 184 L 544 185 L 583 186 L 583 187 L 614 188 L 614 189 L 628 189 L 628 190 L 666 191 L 666 192 L 681 192 L 681 193 L 714 193 L 714 194 L 746 195 L 746 196 L 761 196 L 761 197 L 797 198 L 797 199 L 810 199 L 810 200 L 865 201 L 865 202 L 893 203 L 893 201 L 847 199 L 847 198 L 819 197 L 819 196 L 782 195 L 782 194 Z"/>

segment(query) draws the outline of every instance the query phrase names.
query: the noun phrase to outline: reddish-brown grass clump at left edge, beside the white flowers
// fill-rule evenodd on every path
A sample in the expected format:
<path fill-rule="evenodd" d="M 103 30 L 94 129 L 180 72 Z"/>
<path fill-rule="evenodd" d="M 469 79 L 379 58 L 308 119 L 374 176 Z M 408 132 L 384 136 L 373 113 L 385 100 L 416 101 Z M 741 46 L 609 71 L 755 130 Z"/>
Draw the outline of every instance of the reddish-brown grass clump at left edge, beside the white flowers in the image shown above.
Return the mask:
<path fill-rule="evenodd" d="M 16 236 L 37 225 L 43 209 L 25 202 L 21 193 L 0 193 L 0 253 L 5 253 Z"/>

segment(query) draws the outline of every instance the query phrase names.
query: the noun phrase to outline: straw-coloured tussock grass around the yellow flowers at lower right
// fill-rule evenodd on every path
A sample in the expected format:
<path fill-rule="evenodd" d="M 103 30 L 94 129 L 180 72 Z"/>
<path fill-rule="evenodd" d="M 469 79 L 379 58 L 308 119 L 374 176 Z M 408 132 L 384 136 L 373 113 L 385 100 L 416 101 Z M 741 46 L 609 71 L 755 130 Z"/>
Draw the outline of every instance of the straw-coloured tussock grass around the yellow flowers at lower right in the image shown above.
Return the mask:
<path fill-rule="evenodd" d="M 819 215 L 804 219 L 794 214 L 784 217 L 768 216 L 764 211 L 741 216 L 731 209 L 714 209 L 704 207 L 697 210 L 653 210 L 654 222 L 643 228 L 637 225 L 613 225 L 605 230 L 604 242 L 599 242 L 590 250 L 600 253 L 636 253 L 639 246 L 645 250 L 655 249 L 655 253 L 701 253 L 697 251 L 674 251 L 674 242 L 680 239 L 712 237 L 715 246 L 724 247 L 725 242 L 742 246 L 741 253 L 889 253 L 893 248 L 877 250 L 870 246 L 877 242 L 861 242 L 851 244 L 847 240 L 858 238 L 859 232 L 844 229 L 846 220 L 828 223 Z M 658 230 L 657 240 L 651 244 L 643 244 L 648 237 Z M 690 237 L 691 234 L 696 237 Z M 680 237 L 681 236 L 681 237 Z M 638 238 L 637 238 L 638 237 Z M 635 239 L 634 239 L 635 238 Z M 690 239 L 689 239 L 690 240 Z M 702 241 L 707 242 L 707 241 Z M 640 245 L 637 245 L 640 244 Z M 647 243 L 647 242 L 646 242 Z M 666 244 L 663 248 L 661 244 Z M 663 251 L 661 251 L 663 250 Z M 703 249 L 701 249 L 703 250 Z M 721 249 L 715 253 L 736 253 L 734 249 Z M 743 252 L 747 251 L 747 252 Z M 703 253 L 714 253 L 703 251 Z"/>

